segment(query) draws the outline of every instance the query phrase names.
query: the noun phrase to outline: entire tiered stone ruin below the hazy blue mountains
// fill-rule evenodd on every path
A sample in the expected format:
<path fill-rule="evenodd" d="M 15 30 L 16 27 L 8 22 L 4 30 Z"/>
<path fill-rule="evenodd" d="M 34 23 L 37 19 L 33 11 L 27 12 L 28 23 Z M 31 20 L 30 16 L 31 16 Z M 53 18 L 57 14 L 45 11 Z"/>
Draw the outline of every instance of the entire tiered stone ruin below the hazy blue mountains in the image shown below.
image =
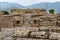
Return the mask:
<path fill-rule="evenodd" d="M 0 40 L 60 40 L 60 15 L 41 9 L 14 9 L 10 15 L 1 14 Z"/>

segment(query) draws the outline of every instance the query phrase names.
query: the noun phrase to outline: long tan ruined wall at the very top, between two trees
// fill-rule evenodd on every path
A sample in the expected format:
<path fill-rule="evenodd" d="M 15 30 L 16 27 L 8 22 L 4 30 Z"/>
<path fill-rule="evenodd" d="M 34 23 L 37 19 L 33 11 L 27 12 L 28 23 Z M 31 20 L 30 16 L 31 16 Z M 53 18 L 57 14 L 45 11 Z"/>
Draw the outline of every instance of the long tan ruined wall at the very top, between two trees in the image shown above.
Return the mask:
<path fill-rule="evenodd" d="M 45 15 L 47 14 L 45 9 L 12 9 L 11 10 L 13 15 L 23 15 L 23 14 L 41 14 L 41 15 Z"/>

